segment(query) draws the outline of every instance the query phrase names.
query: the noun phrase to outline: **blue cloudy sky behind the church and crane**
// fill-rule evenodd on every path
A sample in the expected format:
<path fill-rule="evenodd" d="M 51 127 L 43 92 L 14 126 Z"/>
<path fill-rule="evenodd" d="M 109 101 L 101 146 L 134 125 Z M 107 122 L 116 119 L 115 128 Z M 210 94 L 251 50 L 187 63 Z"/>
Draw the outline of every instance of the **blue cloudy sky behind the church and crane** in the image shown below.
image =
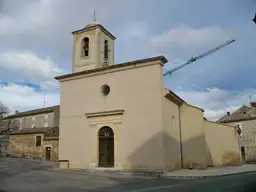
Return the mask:
<path fill-rule="evenodd" d="M 117 39 L 115 63 L 164 55 L 165 70 L 236 42 L 165 77 L 165 87 L 217 119 L 256 99 L 255 0 L 0 0 L 0 100 L 12 110 L 59 104 L 53 77 L 71 72 L 72 34 L 92 21 Z"/>

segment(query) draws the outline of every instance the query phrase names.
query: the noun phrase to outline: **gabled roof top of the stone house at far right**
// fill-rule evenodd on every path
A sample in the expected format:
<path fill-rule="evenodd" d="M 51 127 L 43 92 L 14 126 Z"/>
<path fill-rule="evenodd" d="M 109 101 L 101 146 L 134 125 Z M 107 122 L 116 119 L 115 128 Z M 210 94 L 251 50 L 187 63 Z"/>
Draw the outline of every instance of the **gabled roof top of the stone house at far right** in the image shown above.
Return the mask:
<path fill-rule="evenodd" d="M 238 121 L 246 121 L 246 120 L 253 120 L 256 119 L 256 110 L 243 105 L 235 112 L 231 113 L 230 115 L 224 115 L 221 117 L 217 122 L 220 123 L 228 123 L 228 122 L 238 122 Z"/>

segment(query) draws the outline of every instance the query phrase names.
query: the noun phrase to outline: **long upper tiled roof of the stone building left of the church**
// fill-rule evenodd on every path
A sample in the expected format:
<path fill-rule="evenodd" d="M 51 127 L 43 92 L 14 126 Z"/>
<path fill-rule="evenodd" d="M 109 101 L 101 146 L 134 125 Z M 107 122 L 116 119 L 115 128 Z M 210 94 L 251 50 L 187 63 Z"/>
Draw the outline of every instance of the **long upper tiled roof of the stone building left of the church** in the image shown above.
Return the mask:
<path fill-rule="evenodd" d="M 59 107 L 60 107 L 59 105 L 55 105 L 55 106 L 51 106 L 51 107 L 45 107 L 45 108 L 34 109 L 34 110 L 29 110 L 29 111 L 24 111 L 24 112 L 18 112 L 16 114 L 9 115 L 5 119 L 12 119 L 12 118 L 23 117 L 23 116 L 50 113 L 50 112 L 54 112 L 55 110 L 59 109 Z"/>

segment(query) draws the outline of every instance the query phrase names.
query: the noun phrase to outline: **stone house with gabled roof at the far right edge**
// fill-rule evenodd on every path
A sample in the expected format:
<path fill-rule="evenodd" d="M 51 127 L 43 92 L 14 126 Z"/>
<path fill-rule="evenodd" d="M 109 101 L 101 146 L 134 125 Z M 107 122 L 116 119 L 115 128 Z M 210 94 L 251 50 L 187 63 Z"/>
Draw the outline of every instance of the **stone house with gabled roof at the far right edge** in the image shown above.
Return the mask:
<path fill-rule="evenodd" d="M 240 148 L 244 162 L 256 161 L 256 102 L 251 107 L 242 106 L 235 112 L 227 112 L 217 122 L 239 126 L 242 130 Z"/>

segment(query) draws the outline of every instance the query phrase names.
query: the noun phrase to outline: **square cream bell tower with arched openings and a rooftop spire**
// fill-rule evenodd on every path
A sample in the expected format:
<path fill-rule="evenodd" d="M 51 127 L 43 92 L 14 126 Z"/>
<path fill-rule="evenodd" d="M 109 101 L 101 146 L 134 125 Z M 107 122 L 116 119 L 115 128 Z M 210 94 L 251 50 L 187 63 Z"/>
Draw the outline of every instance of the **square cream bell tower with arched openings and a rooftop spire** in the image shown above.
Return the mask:
<path fill-rule="evenodd" d="M 73 34 L 72 73 L 114 65 L 115 36 L 93 22 Z"/>

